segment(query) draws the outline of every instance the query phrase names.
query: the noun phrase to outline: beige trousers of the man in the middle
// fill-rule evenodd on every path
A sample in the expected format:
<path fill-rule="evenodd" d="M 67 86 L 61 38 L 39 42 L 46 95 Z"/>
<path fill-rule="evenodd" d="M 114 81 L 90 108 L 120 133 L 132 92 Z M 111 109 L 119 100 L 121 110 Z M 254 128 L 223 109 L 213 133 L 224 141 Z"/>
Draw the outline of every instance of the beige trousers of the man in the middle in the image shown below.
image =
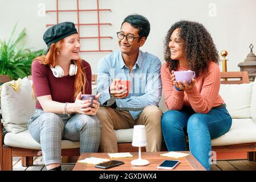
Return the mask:
<path fill-rule="evenodd" d="M 97 111 L 97 117 L 101 122 L 100 150 L 102 152 L 117 152 L 117 140 L 114 130 L 131 129 L 134 125 L 145 125 L 148 152 L 161 150 L 162 111 L 157 106 L 147 106 L 139 117 L 134 120 L 128 111 L 119 111 L 111 107 L 101 106 Z"/>

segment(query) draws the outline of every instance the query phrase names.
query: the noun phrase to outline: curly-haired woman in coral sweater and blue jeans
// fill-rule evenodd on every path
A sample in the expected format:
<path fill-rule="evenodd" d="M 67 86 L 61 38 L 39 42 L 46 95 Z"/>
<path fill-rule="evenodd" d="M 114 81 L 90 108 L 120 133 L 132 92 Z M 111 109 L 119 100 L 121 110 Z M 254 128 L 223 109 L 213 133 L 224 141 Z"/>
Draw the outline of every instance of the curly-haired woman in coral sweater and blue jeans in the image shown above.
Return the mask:
<path fill-rule="evenodd" d="M 231 117 L 220 89 L 218 52 L 206 28 L 182 20 L 170 27 L 165 37 L 161 79 L 169 111 L 161 126 L 169 151 L 185 151 L 188 133 L 190 152 L 210 169 L 211 139 L 229 131 Z M 174 71 L 192 70 L 196 77 L 188 84 L 176 81 Z"/>

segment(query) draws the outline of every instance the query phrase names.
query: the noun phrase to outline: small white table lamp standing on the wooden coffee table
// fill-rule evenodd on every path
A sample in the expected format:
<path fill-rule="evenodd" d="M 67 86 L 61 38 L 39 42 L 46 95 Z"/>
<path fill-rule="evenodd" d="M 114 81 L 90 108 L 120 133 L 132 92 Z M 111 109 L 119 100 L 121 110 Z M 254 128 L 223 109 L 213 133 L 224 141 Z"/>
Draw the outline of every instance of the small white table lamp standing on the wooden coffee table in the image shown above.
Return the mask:
<path fill-rule="evenodd" d="M 141 159 L 141 148 L 147 146 L 146 129 L 144 125 L 135 125 L 133 127 L 132 146 L 139 147 L 139 158 L 132 160 L 133 166 L 146 166 L 149 164 L 148 160 Z"/>

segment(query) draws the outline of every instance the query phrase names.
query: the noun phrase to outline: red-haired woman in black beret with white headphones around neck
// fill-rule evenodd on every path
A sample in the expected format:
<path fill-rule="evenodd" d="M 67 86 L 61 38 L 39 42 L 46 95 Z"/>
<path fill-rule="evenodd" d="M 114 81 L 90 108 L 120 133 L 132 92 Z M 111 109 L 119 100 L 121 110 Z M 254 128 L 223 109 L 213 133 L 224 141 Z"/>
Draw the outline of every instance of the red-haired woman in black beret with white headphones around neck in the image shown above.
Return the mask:
<path fill-rule="evenodd" d="M 80 152 L 97 152 L 101 125 L 96 117 L 96 96 L 81 101 L 81 94 L 91 94 L 91 67 L 79 57 L 79 36 L 72 22 L 48 28 L 43 35 L 46 55 L 32 63 L 32 81 L 37 98 L 29 132 L 41 144 L 48 170 L 61 170 L 62 139 L 80 140 Z"/>

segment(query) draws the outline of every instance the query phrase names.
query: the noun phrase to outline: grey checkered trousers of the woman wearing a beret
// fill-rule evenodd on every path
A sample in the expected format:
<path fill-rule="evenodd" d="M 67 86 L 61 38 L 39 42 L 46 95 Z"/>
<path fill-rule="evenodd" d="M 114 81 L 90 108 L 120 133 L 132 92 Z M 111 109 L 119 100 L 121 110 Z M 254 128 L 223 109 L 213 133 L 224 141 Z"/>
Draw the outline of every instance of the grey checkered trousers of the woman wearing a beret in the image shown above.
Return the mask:
<path fill-rule="evenodd" d="M 41 144 L 44 164 L 60 164 L 62 139 L 80 140 L 80 153 L 97 152 L 101 124 L 96 115 L 44 113 L 36 109 L 28 123 L 29 133 Z"/>

